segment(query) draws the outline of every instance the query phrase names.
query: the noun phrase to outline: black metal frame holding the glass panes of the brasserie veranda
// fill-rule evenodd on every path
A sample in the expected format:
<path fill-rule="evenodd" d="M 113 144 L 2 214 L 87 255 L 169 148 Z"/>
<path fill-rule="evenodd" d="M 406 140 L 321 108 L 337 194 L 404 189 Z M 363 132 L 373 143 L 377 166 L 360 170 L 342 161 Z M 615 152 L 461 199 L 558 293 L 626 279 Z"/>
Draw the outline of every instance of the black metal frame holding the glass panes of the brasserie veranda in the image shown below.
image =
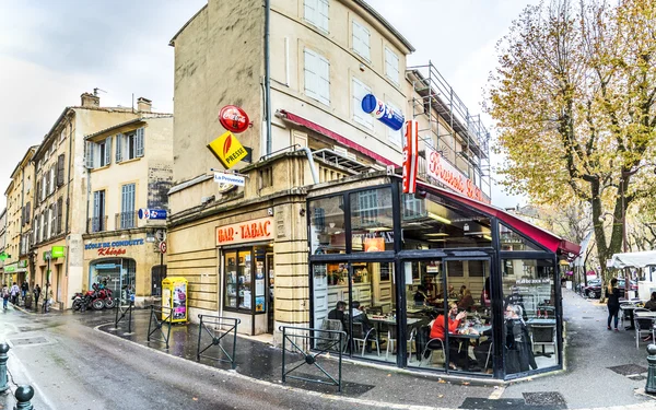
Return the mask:
<path fill-rule="evenodd" d="M 383 251 L 383 253 L 353 253 L 352 251 L 352 230 L 351 230 L 351 207 L 350 207 L 350 195 L 352 192 L 363 191 L 363 190 L 372 190 L 390 187 L 393 194 L 393 213 L 394 213 L 394 237 L 395 245 L 394 251 Z M 440 196 L 438 192 L 432 192 L 435 196 Z M 490 247 L 480 247 L 480 248 L 446 248 L 446 249 L 429 249 L 429 250 L 410 250 L 401 249 L 401 194 L 399 189 L 399 181 L 393 180 L 391 184 L 382 184 L 375 185 L 371 187 L 356 188 L 352 190 L 344 190 L 338 194 L 328 194 L 321 195 L 307 199 L 306 208 L 309 210 L 311 202 L 331 198 L 336 196 L 341 196 L 344 203 L 344 232 L 345 232 L 345 254 L 328 254 L 328 255 L 309 255 L 309 300 L 311 300 L 311 309 L 309 309 L 309 320 L 314 324 L 314 274 L 313 266 L 316 263 L 348 263 L 349 266 L 349 298 L 352 297 L 353 289 L 351 284 L 352 278 L 352 263 L 359 261 L 368 261 L 368 262 L 394 262 L 395 263 L 395 274 L 396 274 L 396 303 L 399 309 L 399 314 L 397 314 L 397 331 L 399 340 L 405 340 L 407 338 L 407 317 L 405 314 L 406 309 L 406 292 L 405 292 L 405 276 L 402 274 L 402 263 L 410 260 L 418 259 L 452 259 L 452 260 L 480 260 L 487 259 L 490 261 L 490 285 L 491 285 L 491 316 L 495 318 L 494 321 L 499 323 L 499 320 L 503 320 L 504 317 L 504 306 L 503 306 L 503 289 L 502 289 L 502 266 L 501 262 L 503 259 L 542 259 L 542 260 L 551 260 L 554 269 L 554 305 L 555 305 L 555 315 L 557 315 L 557 338 L 558 338 L 558 364 L 555 366 L 546 367 L 543 370 L 535 370 L 529 371 L 528 374 L 539 374 L 544 372 L 550 372 L 554 368 L 562 368 L 563 358 L 562 358 L 562 301 L 561 301 L 561 289 L 557 283 L 558 280 L 558 256 L 555 253 L 546 249 L 542 245 L 537 244 L 531 238 L 523 235 L 519 232 L 516 232 L 528 243 L 537 246 L 538 248 L 544 249 L 544 251 L 539 250 L 530 250 L 530 251 L 502 251 L 500 250 L 500 223 L 502 223 L 496 216 L 487 214 L 480 210 L 473 209 L 472 207 L 467 206 L 466 203 L 455 203 L 458 207 L 467 209 L 475 213 L 484 214 L 490 218 L 491 223 L 491 236 L 492 243 Z M 449 202 L 456 202 L 453 199 L 449 199 Z M 306 222 L 307 222 L 307 238 L 308 238 L 308 247 L 312 247 L 312 237 L 311 237 L 311 223 L 312 223 L 312 212 L 307 212 Z M 455 259 L 457 258 L 457 259 Z M 352 329 L 349 329 L 350 331 Z M 323 330 L 320 330 L 323 331 Z M 503 340 L 503 327 L 496 326 L 493 327 L 493 340 Z M 399 354 L 397 354 L 397 366 L 406 367 L 407 362 L 407 347 L 406 343 L 399 343 L 398 345 Z M 352 354 L 352 353 L 351 353 Z M 359 358 L 361 359 L 361 358 Z M 371 359 L 362 358 L 361 360 L 370 361 Z M 376 361 L 379 362 L 379 361 Z M 496 378 L 515 378 L 518 376 L 524 376 L 526 374 L 520 375 L 505 375 L 505 354 L 503 351 L 503 343 L 494 343 L 493 347 L 493 376 Z M 481 375 L 482 376 L 482 375 Z"/>

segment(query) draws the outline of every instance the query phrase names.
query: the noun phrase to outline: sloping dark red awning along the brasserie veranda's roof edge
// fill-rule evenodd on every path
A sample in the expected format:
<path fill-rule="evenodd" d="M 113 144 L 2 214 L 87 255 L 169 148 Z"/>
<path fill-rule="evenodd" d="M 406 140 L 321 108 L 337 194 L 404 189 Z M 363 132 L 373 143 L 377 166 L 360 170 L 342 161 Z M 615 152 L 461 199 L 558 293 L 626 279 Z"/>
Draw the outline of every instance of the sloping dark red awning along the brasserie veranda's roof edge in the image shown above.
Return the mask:
<path fill-rule="evenodd" d="M 464 197 L 461 195 L 457 195 L 455 192 L 438 188 L 436 186 L 433 186 L 433 185 L 430 185 L 430 184 L 426 184 L 423 181 L 418 180 L 417 185 L 418 185 L 418 187 L 424 187 L 430 190 L 440 191 L 440 195 L 442 195 L 444 197 L 447 197 L 457 202 L 461 202 L 466 206 L 469 206 L 469 207 L 471 207 L 478 211 L 484 212 L 489 215 L 495 216 L 501 222 L 505 223 L 506 225 L 516 230 L 517 232 L 520 232 L 525 236 L 531 238 L 532 241 L 537 242 L 538 244 L 542 245 L 543 247 L 546 247 L 547 249 L 549 249 L 551 251 L 555 253 L 555 251 L 560 250 L 561 253 L 564 253 L 564 254 L 573 254 L 574 257 L 581 253 L 579 245 L 574 244 L 570 241 L 563 239 L 562 237 L 557 236 L 549 231 L 546 231 L 539 226 L 536 226 L 529 222 L 526 222 L 523 219 L 519 219 L 519 218 L 502 210 L 501 208 L 496 208 L 496 207 L 493 207 L 488 203 L 476 201 L 473 199 Z"/>

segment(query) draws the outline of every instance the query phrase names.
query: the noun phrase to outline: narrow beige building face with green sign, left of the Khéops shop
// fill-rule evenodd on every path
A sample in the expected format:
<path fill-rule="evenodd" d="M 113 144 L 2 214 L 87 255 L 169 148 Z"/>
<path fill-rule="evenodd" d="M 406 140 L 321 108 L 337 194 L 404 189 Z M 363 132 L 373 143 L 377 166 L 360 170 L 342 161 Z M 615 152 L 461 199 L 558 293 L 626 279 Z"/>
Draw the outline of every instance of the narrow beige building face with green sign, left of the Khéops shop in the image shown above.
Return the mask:
<path fill-rule="evenodd" d="M 103 107 L 96 93 L 83 93 L 66 107 L 33 155 L 35 191 L 32 246 L 35 282 L 48 285 L 55 307 L 70 307 L 70 295 L 84 289 L 84 249 L 89 175 L 85 137 L 139 118 L 126 107 Z"/>

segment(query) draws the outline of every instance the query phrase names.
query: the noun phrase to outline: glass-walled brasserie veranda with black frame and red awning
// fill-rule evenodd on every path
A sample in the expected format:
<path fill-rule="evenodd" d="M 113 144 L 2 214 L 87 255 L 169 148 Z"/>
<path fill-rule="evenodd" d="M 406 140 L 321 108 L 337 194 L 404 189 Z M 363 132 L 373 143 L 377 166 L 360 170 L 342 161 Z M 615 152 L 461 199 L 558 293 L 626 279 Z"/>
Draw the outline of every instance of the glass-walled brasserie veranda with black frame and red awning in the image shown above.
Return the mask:
<path fill-rule="evenodd" d="M 502 379 L 562 368 L 558 266 L 577 245 L 429 184 L 405 195 L 396 176 L 307 198 L 311 326 L 344 330 L 345 354 Z M 344 317 L 330 319 L 338 302 Z M 466 318 L 435 337 L 454 304 Z"/>

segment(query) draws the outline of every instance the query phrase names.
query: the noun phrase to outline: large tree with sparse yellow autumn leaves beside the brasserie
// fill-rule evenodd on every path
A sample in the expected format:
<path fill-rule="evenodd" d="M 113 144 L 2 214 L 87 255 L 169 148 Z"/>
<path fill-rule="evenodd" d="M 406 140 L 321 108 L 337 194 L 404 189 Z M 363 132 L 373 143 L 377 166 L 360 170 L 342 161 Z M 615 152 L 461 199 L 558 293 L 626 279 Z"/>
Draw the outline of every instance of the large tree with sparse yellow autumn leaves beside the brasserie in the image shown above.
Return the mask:
<path fill-rule="evenodd" d="M 588 202 L 606 276 L 626 209 L 656 194 L 656 1 L 528 7 L 497 52 L 487 109 L 504 184 L 537 203 Z"/>

